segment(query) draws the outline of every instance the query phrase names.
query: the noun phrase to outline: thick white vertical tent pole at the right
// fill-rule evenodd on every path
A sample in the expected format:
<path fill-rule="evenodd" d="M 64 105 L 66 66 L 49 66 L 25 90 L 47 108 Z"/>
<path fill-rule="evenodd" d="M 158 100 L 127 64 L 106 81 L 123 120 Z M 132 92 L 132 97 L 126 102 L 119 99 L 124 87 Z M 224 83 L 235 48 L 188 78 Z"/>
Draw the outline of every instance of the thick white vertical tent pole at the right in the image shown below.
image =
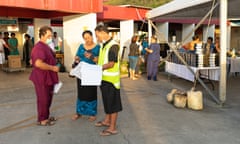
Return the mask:
<path fill-rule="evenodd" d="M 220 0 L 220 83 L 219 99 L 226 101 L 227 0 Z"/>

